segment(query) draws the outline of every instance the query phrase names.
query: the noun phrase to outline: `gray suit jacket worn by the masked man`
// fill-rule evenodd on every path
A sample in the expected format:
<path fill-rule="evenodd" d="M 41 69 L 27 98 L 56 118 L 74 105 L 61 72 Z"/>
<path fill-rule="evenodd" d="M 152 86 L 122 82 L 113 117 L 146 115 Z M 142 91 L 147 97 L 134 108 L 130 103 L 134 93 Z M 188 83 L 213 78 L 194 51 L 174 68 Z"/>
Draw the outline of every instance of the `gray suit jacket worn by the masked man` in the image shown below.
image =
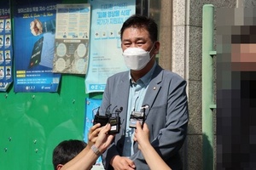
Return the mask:
<path fill-rule="evenodd" d="M 122 156 L 129 88 L 129 71 L 108 78 L 100 113 L 105 113 L 110 104 L 110 111 L 116 105 L 118 108 L 123 107 L 123 111 L 120 113 L 120 133 L 116 134 L 113 144 L 102 155 L 105 169 L 113 169 L 109 164 L 113 156 Z M 149 105 L 145 122 L 150 131 L 151 144 L 172 169 L 181 169 L 182 162 L 178 150 L 186 137 L 189 119 L 185 80 L 176 73 L 165 71 L 160 65 L 156 65 L 143 104 Z M 137 170 L 149 169 L 142 152 L 137 148 L 137 143 L 134 144 L 134 153 L 131 160 L 135 162 Z"/>

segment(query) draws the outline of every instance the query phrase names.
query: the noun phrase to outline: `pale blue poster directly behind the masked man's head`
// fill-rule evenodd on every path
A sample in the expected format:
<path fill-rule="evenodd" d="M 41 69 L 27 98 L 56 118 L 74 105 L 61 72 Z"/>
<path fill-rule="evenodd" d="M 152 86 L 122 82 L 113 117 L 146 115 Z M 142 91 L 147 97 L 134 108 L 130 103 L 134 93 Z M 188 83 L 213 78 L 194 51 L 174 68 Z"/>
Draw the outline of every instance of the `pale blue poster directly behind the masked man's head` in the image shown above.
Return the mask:
<path fill-rule="evenodd" d="M 126 71 L 122 57 L 120 29 L 135 14 L 135 0 L 90 0 L 90 62 L 85 92 L 103 92 L 108 77 Z"/>

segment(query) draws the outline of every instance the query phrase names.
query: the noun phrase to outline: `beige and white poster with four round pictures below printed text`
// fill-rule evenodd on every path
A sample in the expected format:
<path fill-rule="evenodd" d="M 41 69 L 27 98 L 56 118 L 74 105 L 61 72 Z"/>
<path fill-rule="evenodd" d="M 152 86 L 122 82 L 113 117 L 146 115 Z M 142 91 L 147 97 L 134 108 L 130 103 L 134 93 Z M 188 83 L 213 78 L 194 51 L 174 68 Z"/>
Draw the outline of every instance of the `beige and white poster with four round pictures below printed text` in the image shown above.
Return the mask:
<path fill-rule="evenodd" d="M 90 4 L 57 4 L 53 72 L 85 74 L 90 40 Z"/>

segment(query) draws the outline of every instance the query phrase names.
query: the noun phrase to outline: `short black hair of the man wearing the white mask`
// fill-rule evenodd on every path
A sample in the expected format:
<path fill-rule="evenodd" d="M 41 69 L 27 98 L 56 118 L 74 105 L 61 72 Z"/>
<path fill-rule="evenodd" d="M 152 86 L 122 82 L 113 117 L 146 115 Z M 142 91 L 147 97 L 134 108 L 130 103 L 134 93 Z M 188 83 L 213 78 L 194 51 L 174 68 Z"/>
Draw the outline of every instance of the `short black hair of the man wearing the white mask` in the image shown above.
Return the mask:
<path fill-rule="evenodd" d="M 126 28 L 139 28 L 145 29 L 148 31 L 149 37 L 152 42 L 157 41 L 158 38 L 158 26 L 152 18 L 147 16 L 143 16 L 141 14 L 133 14 L 130 18 L 125 20 L 122 28 L 121 28 L 121 40 L 123 38 L 123 33 Z"/>

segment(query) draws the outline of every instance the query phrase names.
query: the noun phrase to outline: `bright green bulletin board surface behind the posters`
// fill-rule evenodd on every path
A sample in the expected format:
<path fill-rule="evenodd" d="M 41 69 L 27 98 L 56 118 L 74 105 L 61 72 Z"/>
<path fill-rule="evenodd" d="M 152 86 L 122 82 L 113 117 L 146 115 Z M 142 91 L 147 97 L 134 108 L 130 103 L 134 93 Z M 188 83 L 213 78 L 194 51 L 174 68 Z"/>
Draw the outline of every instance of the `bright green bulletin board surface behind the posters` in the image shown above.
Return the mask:
<path fill-rule="evenodd" d="M 88 97 L 101 98 L 102 94 L 85 94 L 84 75 L 62 75 L 57 93 L 15 94 L 11 84 L 0 93 L 0 169 L 54 169 L 54 147 L 65 139 L 84 139 Z"/>

